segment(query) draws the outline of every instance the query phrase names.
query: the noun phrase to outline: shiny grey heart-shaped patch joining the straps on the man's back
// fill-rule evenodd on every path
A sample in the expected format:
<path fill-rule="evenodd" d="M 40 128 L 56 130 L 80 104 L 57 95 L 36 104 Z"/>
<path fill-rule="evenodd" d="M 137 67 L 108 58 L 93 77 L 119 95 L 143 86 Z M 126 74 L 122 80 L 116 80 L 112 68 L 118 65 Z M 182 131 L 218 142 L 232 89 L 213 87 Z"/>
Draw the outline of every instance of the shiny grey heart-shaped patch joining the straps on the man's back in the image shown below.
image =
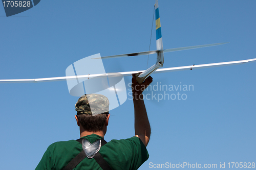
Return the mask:
<path fill-rule="evenodd" d="M 101 147 L 101 140 L 98 139 L 94 143 L 89 142 L 87 139 L 82 139 L 82 149 L 88 158 L 93 158 Z"/>

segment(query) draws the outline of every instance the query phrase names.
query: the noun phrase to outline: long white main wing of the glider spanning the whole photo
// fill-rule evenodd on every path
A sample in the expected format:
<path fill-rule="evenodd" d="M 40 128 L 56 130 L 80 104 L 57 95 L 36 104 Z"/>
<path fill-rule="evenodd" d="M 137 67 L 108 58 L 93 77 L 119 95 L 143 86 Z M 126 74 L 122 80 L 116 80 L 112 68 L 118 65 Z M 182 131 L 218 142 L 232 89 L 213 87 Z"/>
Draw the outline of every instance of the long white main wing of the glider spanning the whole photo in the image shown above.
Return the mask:
<path fill-rule="evenodd" d="M 218 67 L 218 66 L 226 66 L 226 65 L 237 65 L 244 64 L 249 62 L 256 61 L 254 59 L 248 60 L 240 60 L 240 61 L 229 61 L 229 62 L 221 62 L 221 63 L 211 63 L 211 64 L 200 64 L 200 65 L 190 65 L 190 66 L 181 66 L 181 67 L 169 67 L 169 68 L 159 68 L 153 74 L 161 73 L 161 72 L 171 72 L 171 71 L 181 71 L 181 70 L 191 70 L 191 69 L 199 69 L 199 68 L 207 68 L 207 67 Z M 105 76 L 115 77 L 115 76 L 132 76 L 132 74 L 137 74 L 140 71 L 126 71 L 126 72 L 114 72 L 107 74 L 95 74 L 95 75 L 82 75 L 82 76 L 68 76 L 68 77 L 54 77 L 54 78 L 41 78 L 41 79 L 8 79 L 8 80 L 0 80 L 0 83 L 36 83 L 36 82 L 51 82 L 51 81 L 63 81 L 67 79 L 83 79 L 84 78 L 102 78 Z"/>

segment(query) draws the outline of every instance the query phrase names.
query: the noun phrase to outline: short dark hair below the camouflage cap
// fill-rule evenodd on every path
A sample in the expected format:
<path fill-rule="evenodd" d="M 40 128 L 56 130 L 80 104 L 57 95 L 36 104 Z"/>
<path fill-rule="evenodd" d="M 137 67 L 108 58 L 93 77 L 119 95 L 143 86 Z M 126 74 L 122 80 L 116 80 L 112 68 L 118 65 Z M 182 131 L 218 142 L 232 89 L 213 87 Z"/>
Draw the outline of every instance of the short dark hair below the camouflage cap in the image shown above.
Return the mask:
<path fill-rule="evenodd" d="M 79 114 L 77 119 L 84 130 L 91 132 L 98 132 L 103 130 L 106 123 L 106 117 L 108 114 Z"/>

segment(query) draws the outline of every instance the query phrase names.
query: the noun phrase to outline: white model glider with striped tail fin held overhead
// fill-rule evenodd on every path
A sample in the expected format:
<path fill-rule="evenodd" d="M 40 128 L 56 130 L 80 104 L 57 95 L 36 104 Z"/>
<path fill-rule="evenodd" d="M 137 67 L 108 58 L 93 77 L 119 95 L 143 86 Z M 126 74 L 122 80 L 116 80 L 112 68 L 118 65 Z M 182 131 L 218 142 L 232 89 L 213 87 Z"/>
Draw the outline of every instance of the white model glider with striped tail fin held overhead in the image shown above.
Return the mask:
<path fill-rule="evenodd" d="M 137 74 L 136 80 L 138 83 L 142 83 L 148 76 L 151 74 L 161 73 L 161 72 L 171 72 L 171 71 L 181 71 L 181 70 L 192 70 L 192 69 L 199 69 L 199 68 L 207 68 L 207 67 L 216 67 L 216 66 L 226 66 L 226 65 L 236 65 L 236 64 L 244 64 L 256 61 L 254 59 L 248 60 L 240 60 L 240 61 L 229 61 L 229 62 L 220 62 L 220 63 L 210 63 L 210 64 L 200 64 L 200 65 L 190 65 L 190 66 L 181 66 L 181 67 L 169 67 L 169 68 L 160 68 L 163 67 L 164 57 L 163 54 L 166 52 L 175 52 L 175 51 L 182 51 L 182 50 L 190 50 L 195 48 L 201 47 L 208 47 L 208 46 L 215 46 L 215 45 L 222 45 L 224 43 L 215 43 L 215 44 L 206 44 L 206 45 L 196 45 L 196 46 L 187 46 L 187 47 L 179 47 L 179 48 L 171 48 L 171 49 L 163 49 L 163 41 L 162 41 L 162 34 L 161 34 L 161 23 L 160 23 L 160 16 L 159 16 L 159 8 L 158 8 L 158 0 L 156 0 L 155 4 L 155 13 L 156 13 L 156 44 L 157 49 L 155 51 L 148 51 L 148 52 L 138 52 L 138 53 L 130 53 L 130 54 L 122 54 L 122 55 L 115 55 L 115 56 L 106 56 L 100 57 L 101 59 L 109 59 L 109 58 L 117 58 L 117 57 L 131 57 L 131 56 L 140 56 L 140 55 L 150 55 L 150 54 L 157 54 L 156 63 L 146 70 L 137 70 L 137 71 L 126 71 L 126 72 L 114 72 L 114 73 L 106 73 L 106 74 L 88 74 L 88 75 L 80 75 L 80 76 L 66 76 L 66 77 L 54 77 L 54 78 L 39 78 L 39 79 L 7 79 L 7 80 L 0 80 L 0 83 L 35 83 L 35 82 L 50 82 L 50 81 L 63 81 L 63 80 L 72 80 L 72 79 L 84 79 L 84 78 L 103 78 L 105 76 L 108 77 L 115 77 L 115 76 L 132 76 L 132 74 Z M 94 58 L 99 59 L 99 58 Z"/>

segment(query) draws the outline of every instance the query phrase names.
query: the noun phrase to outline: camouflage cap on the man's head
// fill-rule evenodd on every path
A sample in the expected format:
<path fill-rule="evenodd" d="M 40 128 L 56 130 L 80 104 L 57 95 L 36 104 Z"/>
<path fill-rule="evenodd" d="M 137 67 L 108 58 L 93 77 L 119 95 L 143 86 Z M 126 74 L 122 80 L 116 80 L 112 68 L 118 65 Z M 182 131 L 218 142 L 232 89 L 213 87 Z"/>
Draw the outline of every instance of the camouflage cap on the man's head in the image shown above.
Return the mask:
<path fill-rule="evenodd" d="M 97 115 L 109 112 L 110 102 L 101 94 L 84 94 L 76 102 L 77 114 Z"/>

